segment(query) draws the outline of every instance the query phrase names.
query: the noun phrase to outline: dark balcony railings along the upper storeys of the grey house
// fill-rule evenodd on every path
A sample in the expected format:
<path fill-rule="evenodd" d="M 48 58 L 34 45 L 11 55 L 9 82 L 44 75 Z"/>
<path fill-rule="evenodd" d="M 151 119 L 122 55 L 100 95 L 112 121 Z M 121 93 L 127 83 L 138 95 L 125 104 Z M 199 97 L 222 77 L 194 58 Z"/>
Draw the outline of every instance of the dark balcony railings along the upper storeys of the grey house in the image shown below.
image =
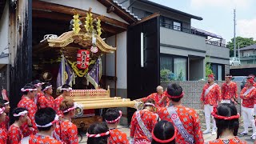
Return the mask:
<path fill-rule="evenodd" d="M 195 34 L 195 35 L 206 37 L 206 35 L 202 35 L 201 33 L 198 33 L 194 29 L 187 29 L 187 28 L 184 28 L 184 27 L 181 27 L 181 26 L 174 26 L 174 25 L 171 25 L 170 23 L 160 22 L 160 26 L 166 27 L 166 28 L 171 29 L 171 30 L 178 30 L 178 31 L 182 31 L 182 32 L 188 33 L 188 34 Z M 218 41 L 210 41 L 210 40 L 206 39 L 206 44 L 226 47 L 224 39 L 220 39 Z"/>

